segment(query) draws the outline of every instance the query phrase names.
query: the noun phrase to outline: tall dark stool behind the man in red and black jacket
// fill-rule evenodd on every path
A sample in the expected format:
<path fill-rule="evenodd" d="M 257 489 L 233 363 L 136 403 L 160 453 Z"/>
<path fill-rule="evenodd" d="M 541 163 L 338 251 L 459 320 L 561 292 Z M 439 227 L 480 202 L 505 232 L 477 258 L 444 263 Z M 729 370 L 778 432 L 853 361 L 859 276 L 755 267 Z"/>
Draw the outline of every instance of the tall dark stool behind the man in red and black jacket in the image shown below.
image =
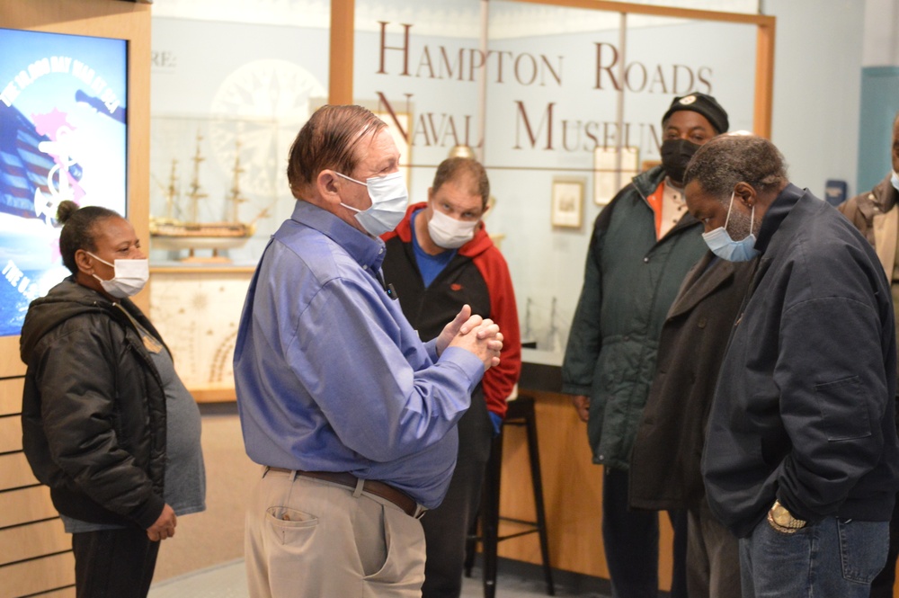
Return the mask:
<path fill-rule="evenodd" d="M 534 490 L 534 505 L 536 507 L 537 521 L 521 521 L 509 517 L 500 516 L 500 478 L 503 469 L 503 437 L 507 426 L 523 427 L 527 432 L 528 455 L 530 458 L 530 479 Z M 538 533 L 540 539 L 540 553 L 543 558 L 543 576 L 547 583 L 547 594 L 556 595 L 556 587 L 553 584 L 553 572 L 549 567 L 549 542 L 547 540 L 547 518 L 543 506 L 543 478 L 540 475 L 539 446 L 537 443 L 537 416 L 534 411 L 533 397 L 518 397 L 509 401 L 503 428 L 494 438 L 490 451 L 490 459 L 487 460 L 487 468 L 484 476 L 484 495 L 481 500 L 481 510 L 478 513 L 481 524 L 481 535 L 477 535 L 477 521 L 468 531 L 468 543 L 465 559 L 465 575 L 471 576 L 471 567 L 475 560 L 475 545 L 477 541 L 482 544 L 484 552 L 484 596 L 494 598 L 496 593 L 496 549 L 499 542 L 518 538 L 530 533 Z M 507 536 L 499 535 L 500 520 L 520 523 L 529 526 L 530 529 L 519 531 Z"/>

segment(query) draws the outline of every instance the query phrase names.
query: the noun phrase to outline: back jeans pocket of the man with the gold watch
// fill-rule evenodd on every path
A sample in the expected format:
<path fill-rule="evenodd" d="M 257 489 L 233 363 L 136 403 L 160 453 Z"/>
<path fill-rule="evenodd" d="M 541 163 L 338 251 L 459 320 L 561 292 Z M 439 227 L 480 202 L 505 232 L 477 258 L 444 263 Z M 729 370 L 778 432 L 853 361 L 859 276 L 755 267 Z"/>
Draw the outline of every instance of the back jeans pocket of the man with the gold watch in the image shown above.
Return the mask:
<path fill-rule="evenodd" d="M 889 547 L 888 522 L 837 520 L 843 578 L 870 584 L 886 564 Z"/>

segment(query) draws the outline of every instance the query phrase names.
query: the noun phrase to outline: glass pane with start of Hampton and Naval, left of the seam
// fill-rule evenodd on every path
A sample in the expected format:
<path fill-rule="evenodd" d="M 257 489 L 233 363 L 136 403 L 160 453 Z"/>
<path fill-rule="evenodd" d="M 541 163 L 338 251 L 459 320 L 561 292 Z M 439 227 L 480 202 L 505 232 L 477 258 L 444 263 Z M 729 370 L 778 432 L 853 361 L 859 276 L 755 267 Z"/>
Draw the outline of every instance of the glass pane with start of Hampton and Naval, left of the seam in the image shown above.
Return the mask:
<path fill-rule="evenodd" d="M 457 145 L 478 147 L 480 0 L 358 0 L 353 102 L 387 122 L 412 201 Z"/>

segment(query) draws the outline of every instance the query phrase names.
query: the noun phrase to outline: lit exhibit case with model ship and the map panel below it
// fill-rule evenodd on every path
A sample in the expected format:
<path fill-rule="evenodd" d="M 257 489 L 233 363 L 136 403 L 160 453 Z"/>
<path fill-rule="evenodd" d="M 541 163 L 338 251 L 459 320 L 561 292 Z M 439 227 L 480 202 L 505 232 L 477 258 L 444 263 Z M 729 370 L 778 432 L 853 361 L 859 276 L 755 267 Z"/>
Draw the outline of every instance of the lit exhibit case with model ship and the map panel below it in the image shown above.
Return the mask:
<path fill-rule="evenodd" d="M 327 101 L 327 4 L 154 6 L 150 315 L 199 402 L 235 397 L 236 319 L 294 207 L 289 147 Z"/>

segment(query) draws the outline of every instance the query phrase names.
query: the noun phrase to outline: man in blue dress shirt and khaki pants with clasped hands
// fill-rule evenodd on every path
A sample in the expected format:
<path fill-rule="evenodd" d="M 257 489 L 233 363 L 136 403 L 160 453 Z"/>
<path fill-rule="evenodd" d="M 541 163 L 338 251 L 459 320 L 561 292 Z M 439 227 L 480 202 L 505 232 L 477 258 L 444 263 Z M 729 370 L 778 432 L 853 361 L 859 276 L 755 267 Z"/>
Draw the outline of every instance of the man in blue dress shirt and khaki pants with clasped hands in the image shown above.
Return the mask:
<path fill-rule="evenodd" d="M 423 344 L 380 273 L 408 202 L 387 126 L 325 106 L 290 149 L 293 215 L 247 291 L 234 373 L 250 594 L 418 596 L 418 517 L 441 503 L 456 424 L 503 335 L 467 306 Z"/>

